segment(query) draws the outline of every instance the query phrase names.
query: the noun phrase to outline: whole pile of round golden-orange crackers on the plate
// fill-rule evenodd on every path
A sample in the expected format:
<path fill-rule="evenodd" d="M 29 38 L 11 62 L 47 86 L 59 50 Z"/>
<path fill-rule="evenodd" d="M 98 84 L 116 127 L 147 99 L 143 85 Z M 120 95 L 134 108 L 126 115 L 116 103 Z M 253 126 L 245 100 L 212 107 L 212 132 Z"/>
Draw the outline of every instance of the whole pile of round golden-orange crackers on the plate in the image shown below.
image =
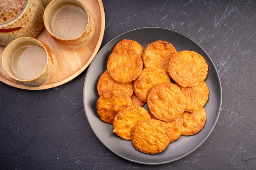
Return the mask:
<path fill-rule="evenodd" d="M 180 135 L 194 135 L 203 128 L 207 73 L 208 65 L 197 52 L 177 52 L 162 40 L 144 50 L 137 41 L 123 39 L 99 77 L 97 113 L 137 150 L 160 153 Z"/>

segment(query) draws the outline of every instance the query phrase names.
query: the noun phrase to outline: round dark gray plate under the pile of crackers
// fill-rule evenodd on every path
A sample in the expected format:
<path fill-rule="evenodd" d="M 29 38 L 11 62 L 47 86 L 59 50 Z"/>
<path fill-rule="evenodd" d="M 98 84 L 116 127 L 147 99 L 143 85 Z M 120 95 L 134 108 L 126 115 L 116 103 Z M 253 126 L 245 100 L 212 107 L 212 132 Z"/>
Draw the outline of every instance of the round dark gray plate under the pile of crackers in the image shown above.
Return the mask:
<path fill-rule="evenodd" d="M 145 49 L 146 46 L 156 40 L 164 40 L 173 44 L 177 51 L 191 50 L 201 54 L 206 60 L 209 71 L 206 83 L 209 87 L 209 100 L 204 109 L 207 112 L 206 123 L 203 129 L 192 136 L 181 136 L 172 142 L 162 152 L 155 155 L 148 155 L 139 152 L 133 146 L 131 141 L 121 139 L 112 133 L 112 125 L 102 122 L 96 111 L 96 102 L 99 98 L 97 93 L 97 82 L 99 76 L 106 70 L 106 63 L 113 47 L 122 39 L 132 39 Z M 163 164 L 176 161 L 197 149 L 213 131 L 218 120 L 222 102 L 222 91 L 220 78 L 216 67 L 209 55 L 195 41 L 185 35 L 166 28 L 147 27 L 128 31 L 112 39 L 96 55 L 90 67 L 88 68 L 84 89 L 83 102 L 85 115 L 92 128 L 92 131 L 99 140 L 116 155 L 141 164 Z"/>

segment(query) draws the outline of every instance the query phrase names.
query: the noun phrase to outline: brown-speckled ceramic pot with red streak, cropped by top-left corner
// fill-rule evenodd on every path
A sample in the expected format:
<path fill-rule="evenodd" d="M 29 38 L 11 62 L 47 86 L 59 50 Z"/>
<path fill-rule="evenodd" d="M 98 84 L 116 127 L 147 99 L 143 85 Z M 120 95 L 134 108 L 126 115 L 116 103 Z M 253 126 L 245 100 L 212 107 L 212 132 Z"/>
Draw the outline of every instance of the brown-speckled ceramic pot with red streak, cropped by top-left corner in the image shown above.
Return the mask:
<path fill-rule="evenodd" d="M 41 0 L 0 0 L 0 45 L 19 37 L 35 37 L 43 29 Z"/>

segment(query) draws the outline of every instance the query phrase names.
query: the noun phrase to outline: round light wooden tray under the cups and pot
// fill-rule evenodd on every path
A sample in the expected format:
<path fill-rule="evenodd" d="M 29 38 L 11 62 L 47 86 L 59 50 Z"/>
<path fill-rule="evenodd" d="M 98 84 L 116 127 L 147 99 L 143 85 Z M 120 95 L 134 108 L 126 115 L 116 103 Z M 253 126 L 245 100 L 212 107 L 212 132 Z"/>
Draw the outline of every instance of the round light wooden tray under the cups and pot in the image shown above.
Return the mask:
<path fill-rule="evenodd" d="M 27 87 L 13 81 L 2 67 L 2 53 L 5 46 L 0 46 L 0 81 L 20 89 L 40 90 L 62 85 L 81 74 L 97 54 L 105 31 L 105 12 L 102 1 L 81 0 L 81 2 L 85 3 L 88 11 L 92 14 L 96 27 L 94 37 L 87 45 L 75 50 L 62 48 L 54 42 L 45 28 L 35 37 L 45 42 L 53 50 L 58 60 L 57 72 L 49 83 L 40 87 Z"/>

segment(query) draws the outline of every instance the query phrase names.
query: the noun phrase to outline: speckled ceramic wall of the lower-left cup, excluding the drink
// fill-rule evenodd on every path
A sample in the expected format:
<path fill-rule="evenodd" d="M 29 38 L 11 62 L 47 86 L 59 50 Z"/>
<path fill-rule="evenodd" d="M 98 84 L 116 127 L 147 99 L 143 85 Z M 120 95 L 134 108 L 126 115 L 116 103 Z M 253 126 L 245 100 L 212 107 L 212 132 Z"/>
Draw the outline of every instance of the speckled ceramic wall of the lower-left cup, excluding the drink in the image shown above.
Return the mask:
<path fill-rule="evenodd" d="M 37 76 L 36 78 L 33 78 L 31 80 L 20 80 L 20 79 L 16 78 L 15 76 L 13 76 L 13 74 L 11 72 L 11 68 L 9 67 L 11 53 L 16 48 L 17 44 L 24 43 L 25 41 L 34 41 L 34 42 L 40 44 L 45 49 L 45 52 L 47 53 L 47 64 L 46 64 L 45 70 L 39 76 Z M 2 65 L 3 65 L 4 71 L 11 78 L 13 78 L 13 80 L 16 81 L 17 83 L 19 83 L 21 85 L 29 86 L 29 87 L 38 87 L 40 85 L 45 85 L 52 79 L 52 77 L 54 76 L 54 74 L 56 73 L 56 70 L 57 70 L 57 59 L 56 59 L 54 53 L 52 52 L 52 50 L 46 44 L 44 44 L 42 41 L 40 41 L 38 39 L 31 38 L 31 37 L 21 37 L 21 38 L 18 38 L 16 40 L 12 41 L 4 49 L 4 52 L 2 55 Z"/>

